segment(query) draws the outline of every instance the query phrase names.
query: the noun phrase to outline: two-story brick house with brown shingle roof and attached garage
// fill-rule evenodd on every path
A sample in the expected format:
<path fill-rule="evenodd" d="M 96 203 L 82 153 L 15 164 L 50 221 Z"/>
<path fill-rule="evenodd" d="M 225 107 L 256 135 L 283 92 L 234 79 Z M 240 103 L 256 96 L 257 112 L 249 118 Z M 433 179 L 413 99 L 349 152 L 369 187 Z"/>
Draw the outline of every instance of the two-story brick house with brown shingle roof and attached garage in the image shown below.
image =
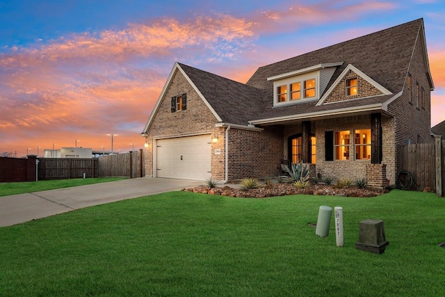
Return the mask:
<path fill-rule="evenodd" d="M 423 19 L 259 67 L 245 84 L 175 63 L 143 130 L 146 174 L 227 182 L 303 161 L 385 186 L 398 145 L 432 142 L 433 88 Z"/>

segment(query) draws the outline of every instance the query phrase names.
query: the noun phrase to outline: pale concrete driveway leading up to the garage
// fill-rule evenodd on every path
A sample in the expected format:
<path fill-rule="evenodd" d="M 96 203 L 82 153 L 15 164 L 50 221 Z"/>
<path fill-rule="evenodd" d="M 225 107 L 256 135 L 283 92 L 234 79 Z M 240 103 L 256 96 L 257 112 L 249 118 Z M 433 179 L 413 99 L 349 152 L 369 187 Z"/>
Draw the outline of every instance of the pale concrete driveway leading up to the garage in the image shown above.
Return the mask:
<path fill-rule="evenodd" d="M 0 197 L 0 227 L 97 204 L 178 191 L 205 182 L 141 177 Z"/>

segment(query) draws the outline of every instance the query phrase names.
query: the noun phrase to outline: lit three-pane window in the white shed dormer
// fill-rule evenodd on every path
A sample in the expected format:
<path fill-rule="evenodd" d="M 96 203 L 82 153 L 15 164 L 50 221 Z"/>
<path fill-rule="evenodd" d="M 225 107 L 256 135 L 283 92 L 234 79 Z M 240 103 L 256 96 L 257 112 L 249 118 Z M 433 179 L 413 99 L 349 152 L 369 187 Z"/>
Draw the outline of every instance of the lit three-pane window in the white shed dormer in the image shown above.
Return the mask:
<path fill-rule="evenodd" d="M 317 99 L 317 77 L 286 79 L 275 82 L 275 104 L 298 102 L 304 99 Z"/>

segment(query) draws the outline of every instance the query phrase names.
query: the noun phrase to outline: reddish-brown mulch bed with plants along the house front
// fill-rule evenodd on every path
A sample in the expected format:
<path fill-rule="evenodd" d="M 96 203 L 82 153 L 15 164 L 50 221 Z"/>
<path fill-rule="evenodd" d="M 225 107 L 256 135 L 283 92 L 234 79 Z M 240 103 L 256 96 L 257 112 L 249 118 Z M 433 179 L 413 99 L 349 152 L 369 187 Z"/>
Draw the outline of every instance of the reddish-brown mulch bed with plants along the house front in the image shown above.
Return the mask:
<path fill-rule="evenodd" d="M 217 186 L 210 188 L 209 186 L 197 186 L 195 188 L 184 188 L 182 191 L 193 193 L 203 193 L 209 195 L 223 195 L 236 198 L 266 198 L 285 195 L 331 195 L 345 197 L 375 197 L 387 193 L 388 190 L 378 190 L 373 188 L 357 188 L 357 186 L 326 186 L 324 184 L 314 184 L 309 188 L 297 188 L 293 184 L 274 184 L 273 188 L 261 186 L 259 188 L 250 188 L 243 191 L 241 188 L 231 188 L 229 186 Z"/>

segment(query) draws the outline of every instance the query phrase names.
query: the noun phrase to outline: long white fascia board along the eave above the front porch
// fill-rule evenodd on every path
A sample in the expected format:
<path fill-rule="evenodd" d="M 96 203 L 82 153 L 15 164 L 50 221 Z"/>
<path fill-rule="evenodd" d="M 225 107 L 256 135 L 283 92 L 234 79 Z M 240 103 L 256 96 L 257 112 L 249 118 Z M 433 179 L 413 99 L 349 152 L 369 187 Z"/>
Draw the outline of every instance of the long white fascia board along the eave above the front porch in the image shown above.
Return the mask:
<path fill-rule="evenodd" d="M 364 112 L 364 111 L 377 111 L 382 109 L 382 104 L 376 103 L 371 105 L 365 105 L 365 106 L 355 106 L 353 108 L 346 108 L 346 109 L 334 109 L 329 111 L 318 111 L 315 113 L 302 113 L 300 115 L 286 115 L 284 117 L 278 117 L 278 118 L 268 118 L 263 120 L 252 120 L 249 121 L 251 125 L 261 125 L 261 124 L 271 124 L 271 123 L 277 123 L 277 122 L 284 122 L 288 120 L 302 120 L 306 118 L 323 118 L 330 115 L 345 115 L 348 113 L 357 113 L 357 112 Z"/>

